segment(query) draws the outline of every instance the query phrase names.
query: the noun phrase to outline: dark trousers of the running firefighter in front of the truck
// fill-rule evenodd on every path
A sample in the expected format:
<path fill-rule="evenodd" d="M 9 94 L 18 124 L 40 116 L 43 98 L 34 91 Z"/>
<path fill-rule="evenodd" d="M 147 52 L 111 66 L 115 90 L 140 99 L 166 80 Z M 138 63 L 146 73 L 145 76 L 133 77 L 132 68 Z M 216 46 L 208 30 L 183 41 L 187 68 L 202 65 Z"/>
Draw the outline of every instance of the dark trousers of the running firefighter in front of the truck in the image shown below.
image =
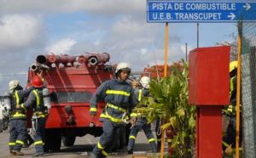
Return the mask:
<path fill-rule="evenodd" d="M 124 124 L 114 123 L 113 121 L 103 121 L 103 133 L 96 144 L 94 149 L 92 150 L 91 158 L 103 158 L 108 156 L 108 153 L 111 152 L 113 147 L 117 144 L 119 137 L 119 128 L 124 127 Z"/>

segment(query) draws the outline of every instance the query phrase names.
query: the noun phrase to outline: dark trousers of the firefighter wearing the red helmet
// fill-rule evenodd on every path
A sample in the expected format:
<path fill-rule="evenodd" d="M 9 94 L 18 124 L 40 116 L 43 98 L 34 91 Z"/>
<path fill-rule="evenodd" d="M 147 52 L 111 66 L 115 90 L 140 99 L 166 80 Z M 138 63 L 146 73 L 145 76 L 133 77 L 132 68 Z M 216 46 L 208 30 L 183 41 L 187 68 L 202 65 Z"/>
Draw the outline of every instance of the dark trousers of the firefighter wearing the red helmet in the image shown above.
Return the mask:
<path fill-rule="evenodd" d="M 38 154 L 44 153 L 45 121 L 44 117 L 32 118 L 34 144 Z"/>

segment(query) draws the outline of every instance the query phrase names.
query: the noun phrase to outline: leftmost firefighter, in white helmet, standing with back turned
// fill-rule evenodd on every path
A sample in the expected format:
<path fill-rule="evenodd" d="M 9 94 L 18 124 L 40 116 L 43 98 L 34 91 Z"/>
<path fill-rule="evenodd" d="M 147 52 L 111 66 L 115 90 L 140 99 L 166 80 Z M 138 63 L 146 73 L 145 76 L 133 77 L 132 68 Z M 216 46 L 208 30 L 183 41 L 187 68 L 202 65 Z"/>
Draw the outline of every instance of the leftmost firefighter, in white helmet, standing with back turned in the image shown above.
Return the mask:
<path fill-rule="evenodd" d="M 26 110 L 19 109 L 19 105 L 32 91 L 32 88 L 22 90 L 20 82 L 9 82 L 10 94 L 10 127 L 9 127 L 9 152 L 10 155 L 24 155 L 20 150 L 26 141 Z"/>

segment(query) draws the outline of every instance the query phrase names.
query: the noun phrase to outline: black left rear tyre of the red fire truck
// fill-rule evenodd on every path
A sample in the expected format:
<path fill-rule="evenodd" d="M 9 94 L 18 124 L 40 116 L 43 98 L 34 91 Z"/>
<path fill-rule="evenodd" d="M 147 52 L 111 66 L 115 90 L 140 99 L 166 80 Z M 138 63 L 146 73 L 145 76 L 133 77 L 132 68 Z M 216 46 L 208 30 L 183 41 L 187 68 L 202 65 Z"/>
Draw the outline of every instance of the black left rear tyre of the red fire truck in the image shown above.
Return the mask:
<path fill-rule="evenodd" d="M 49 129 L 45 132 L 44 151 L 56 151 L 61 149 L 61 133 L 58 130 Z"/>

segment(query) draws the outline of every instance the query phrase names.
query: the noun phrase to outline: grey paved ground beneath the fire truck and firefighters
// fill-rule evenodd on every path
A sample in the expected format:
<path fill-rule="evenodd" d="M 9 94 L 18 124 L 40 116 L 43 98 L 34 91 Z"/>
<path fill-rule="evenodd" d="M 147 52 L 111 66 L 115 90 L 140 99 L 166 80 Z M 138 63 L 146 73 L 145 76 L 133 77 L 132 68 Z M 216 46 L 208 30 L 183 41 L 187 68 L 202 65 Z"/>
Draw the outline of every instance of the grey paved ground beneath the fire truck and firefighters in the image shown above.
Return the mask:
<path fill-rule="evenodd" d="M 86 135 L 81 138 L 77 138 L 75 145 L 73 147 L 64 147 L 61 146 L 61 150 L 57 152 L 49 152 L 46 153 L 45 157 L 61 157 L 61 158 L 72 158 L 72 157 L 90 157 L 90 151 L 93 149 L 93 147 L 96 145 L 98 141 L 98 138 L 94 138 L 91 135 Z M 0 133 L 0 157 L 10 157 L 9 156 L 9 133 L 4 131 L 3 133 Z M 34 146 L 30 146 L 30 148 L 22 149 L 22 151 L 25 153 L 22 158 L 32 157 L 34 153 Z M 147 155 L 147 153 L 150 152 L 149 145 L 147 142 L 147 138 L 144 135 L 144 133 L 140 132 L 138 133 L 136 144 L 134 147 L 134 155 Z M 148 154 L 150 155 L 150 154 Z M 12 157 L 18 157 L 18 156 L 12 156 Z M 126 148 L 124 150 L 119 150 L 116 153 L 113 153 L 111 158 L 128 158 L 132 157 L 132 155 L 126 154 Z"/>

